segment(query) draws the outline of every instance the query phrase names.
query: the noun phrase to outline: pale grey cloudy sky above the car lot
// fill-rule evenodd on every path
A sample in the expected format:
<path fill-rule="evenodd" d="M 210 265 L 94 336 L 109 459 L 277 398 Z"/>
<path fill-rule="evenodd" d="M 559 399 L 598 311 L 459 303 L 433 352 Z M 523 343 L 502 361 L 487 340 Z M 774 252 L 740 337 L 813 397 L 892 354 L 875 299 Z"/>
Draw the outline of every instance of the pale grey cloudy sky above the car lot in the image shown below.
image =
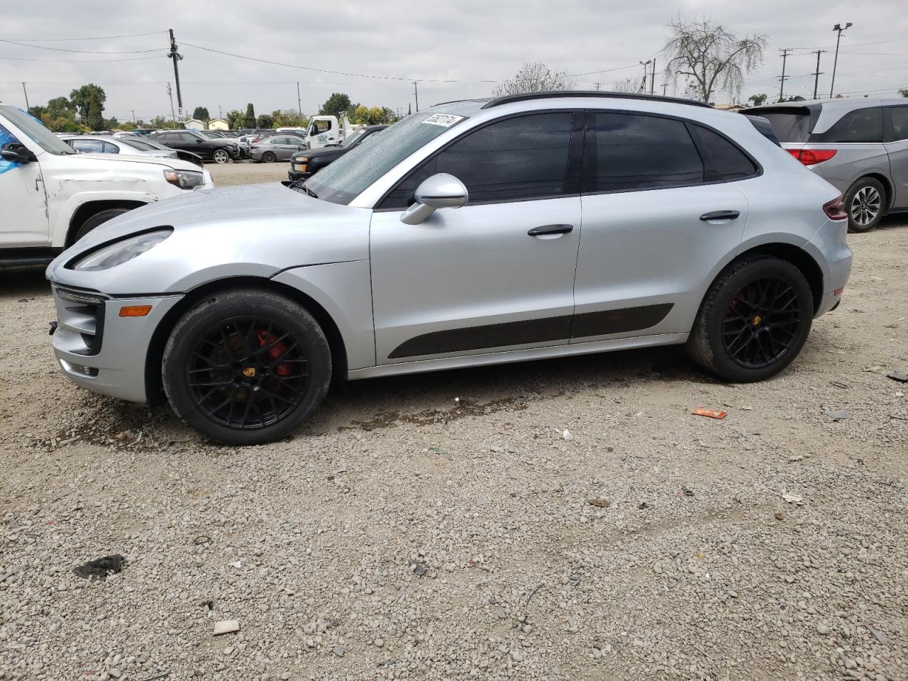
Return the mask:
<path fill-rule="evenodd" d="M 828 95 L 832 26 L 848 21 L 854 26 L 842 39 L 836 93 L 894 96 L 908 88 L 908 13 L 903 1 L 381 0 L 369 5 L 266 4 L 273 9 L 255 10 L 252 7 L 262 5 L 248 0 L 210 5 L 158 0 L 137 5 L 142 7 L 137 11 L 127 6 L 133 3 L 109 0 L 44 0 L 36 5 L 6 0 L 0 23 L 0 40 L 5 41 L 0 42 L 0 101 L 24 105 L 22 81 L 33 105 L 94 82 L 107 93 L 105 116 L 129 120 L 133 111 L 145 120 L 169 116 L 166 84 L 173 83 L 173 66 L 164 56 L 168 28 L 173 28 L 184 56 L 184 106 L 190 113 L 195 106 L 206 106 L 212 116 L 219 109 L 224 114 L 244 110 L 248 102 L 257 114 L 296 108 L 297 81 L 306 114 L 314 113 L 332 92 L 406 113 L 413 102 L 414 79 L 419 80 L 419 104 L 425 107 L 488 96 L 494 85 L 489 81 L 507 78 L 523 62 L 582 74 L 576 78 L 578 87 L 599 83 L 610 89 L 621 78 L 639 77 L 642 67 L 634 64 L 656 56 L 659 89 L 666 83 L 659 65 L 665 61 L 659 54 L 666 42 L 665 25 L 678 14 L 706 15 L 738 35 L 767 35 L 765 62 L 749 75 L 745 99 L 755 93 L 778 94 L 783 47 L 796 48 L 788 59 L 791 80 L 785 94 L 808 97 L 816 64 L 809 51 L 830 50 L 822 55 L 820 67 L 820 92 Z M 111 37 L 120 35 L 131 36 Z M 673 90 L 669 84 L 668 94 Z M 175 94 L 173 100 L 175 106 Z M 727 94 L 716 97 L 716 102 L 729 100 Z"/>

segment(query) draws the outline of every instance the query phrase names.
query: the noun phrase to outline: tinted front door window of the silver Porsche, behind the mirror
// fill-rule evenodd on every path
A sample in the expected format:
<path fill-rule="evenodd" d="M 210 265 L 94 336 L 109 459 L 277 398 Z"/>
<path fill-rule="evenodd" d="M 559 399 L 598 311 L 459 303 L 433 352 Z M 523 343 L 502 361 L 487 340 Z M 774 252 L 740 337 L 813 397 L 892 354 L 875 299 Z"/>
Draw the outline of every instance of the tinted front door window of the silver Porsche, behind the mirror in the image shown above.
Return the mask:
<path fill-rule="evenodd" d="M 435 173 L 467 186 L 469 202 L 515 201 L 565 191 L 573 114 L 532 114 L 491 123 L 436 157 Z"/>

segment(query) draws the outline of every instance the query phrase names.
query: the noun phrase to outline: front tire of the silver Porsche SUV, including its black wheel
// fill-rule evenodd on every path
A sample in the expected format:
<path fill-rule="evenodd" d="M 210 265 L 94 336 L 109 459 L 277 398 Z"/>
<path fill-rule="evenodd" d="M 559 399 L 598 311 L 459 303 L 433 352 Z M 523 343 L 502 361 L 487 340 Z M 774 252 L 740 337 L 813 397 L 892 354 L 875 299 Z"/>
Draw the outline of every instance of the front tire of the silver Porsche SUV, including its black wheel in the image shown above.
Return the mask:
<path fill-rule="evenodd" d="M 162 380 L 173 411 L 202 435 L 262 444 L 299 428 L 319 406 L 331 384 L 331 350 L 300 304 L 262 289 L 232 289 L 207 296 L 177 321 Z"/>

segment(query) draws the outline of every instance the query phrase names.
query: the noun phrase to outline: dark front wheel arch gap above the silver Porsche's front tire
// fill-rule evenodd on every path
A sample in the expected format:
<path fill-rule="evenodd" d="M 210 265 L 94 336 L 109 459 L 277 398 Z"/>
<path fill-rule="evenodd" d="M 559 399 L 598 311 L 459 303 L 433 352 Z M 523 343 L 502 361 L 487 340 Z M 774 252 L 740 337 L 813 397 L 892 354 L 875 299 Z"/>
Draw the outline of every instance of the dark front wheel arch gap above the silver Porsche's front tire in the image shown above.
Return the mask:
<path fill-rule="evenodd" d="M 183 317 L 183 313 L 189 310 L 196 302 L 201 301 L 205 296 L 212 295 L 212 293 L 247 287 L 279 293 L 306 308 L 315 318 L 315 321 L 319 322 L 321 330 L 324 331 L 325 338 L 328 340 L 328 346 L 331 349 L 333 375 L 335 377 L 347 375 L 346 344 L 343 341 L 343 336 L 337 323 L 331 318 L 328 311 L 321 306 L 321 303 L 299 289 L 294 289 L 292 286 L 280 281 L 273 281 L 263 277 L 231 277 L 209 281 L 188 291 L 180 302 L 167 311 L 161 323 L 154 330 L 152 340 L 148 344 L 148 352 L 145 355 L 145 395 L 150 406 L 162 401 L 161 363 L 163 350 L 167 344 L 167 339 L 170 338 L 173 327 Z"/>

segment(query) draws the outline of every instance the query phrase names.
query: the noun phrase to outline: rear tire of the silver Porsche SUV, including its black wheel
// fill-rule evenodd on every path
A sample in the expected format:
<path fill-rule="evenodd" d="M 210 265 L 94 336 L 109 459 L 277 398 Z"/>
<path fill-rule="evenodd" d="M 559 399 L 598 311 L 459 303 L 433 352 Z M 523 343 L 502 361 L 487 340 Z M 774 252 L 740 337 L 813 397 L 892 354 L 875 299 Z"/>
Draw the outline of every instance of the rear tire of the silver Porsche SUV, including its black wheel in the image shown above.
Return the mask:
<path fill-rule="evenodd" d="M 795 360 L 813 319 L 804 274 L 791 262 L 754 256 L 730 265 L 706 291 L 687 352 L 722 379 L 765 380 Z"/>

